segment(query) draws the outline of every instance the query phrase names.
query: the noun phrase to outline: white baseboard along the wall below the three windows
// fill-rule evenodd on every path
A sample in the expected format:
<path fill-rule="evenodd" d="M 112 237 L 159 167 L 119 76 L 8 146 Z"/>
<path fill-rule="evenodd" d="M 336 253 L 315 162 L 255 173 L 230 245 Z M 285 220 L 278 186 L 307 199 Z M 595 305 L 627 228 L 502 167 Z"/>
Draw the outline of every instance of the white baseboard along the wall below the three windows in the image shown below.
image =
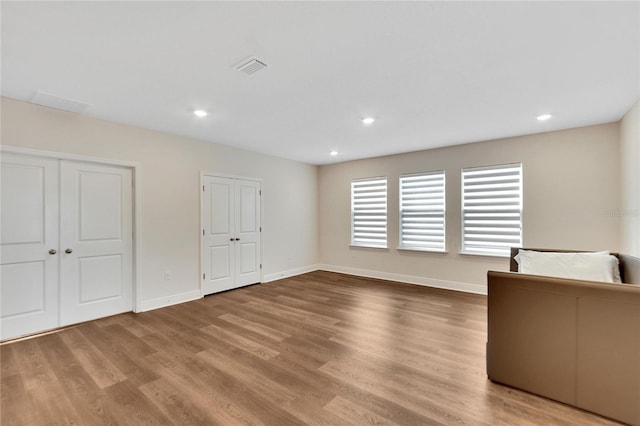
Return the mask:
<path fill-rule="evenodd" d="M 392 272 L 371 271 L 368 269 L 349 268 L 337 265 L 317 265 L 317 269 L 341 274 L 356 275 L 381 280 L 398 281 L 407 284 L 423 285 L 426 287 L 443 288 L 446 290 L 463 291 L 465 293 L 487 294 L 487 287 L 478 284 L 461 283 L 456 281 L 439 280 L 435 278 L 416 277 L 413 275 L 395 274 Z"/>

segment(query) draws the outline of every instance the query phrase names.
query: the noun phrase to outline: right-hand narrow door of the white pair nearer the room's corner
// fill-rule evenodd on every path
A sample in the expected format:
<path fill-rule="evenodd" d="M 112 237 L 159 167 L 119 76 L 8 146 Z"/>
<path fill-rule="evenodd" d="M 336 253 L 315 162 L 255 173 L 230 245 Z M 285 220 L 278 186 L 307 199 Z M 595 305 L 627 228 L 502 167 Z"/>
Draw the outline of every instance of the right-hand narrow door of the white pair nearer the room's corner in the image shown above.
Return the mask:
<path fill-rule="evenodd" d="M 239 286 L 260 282 L 260 183 L 236 183 L 236 276 Z"/>

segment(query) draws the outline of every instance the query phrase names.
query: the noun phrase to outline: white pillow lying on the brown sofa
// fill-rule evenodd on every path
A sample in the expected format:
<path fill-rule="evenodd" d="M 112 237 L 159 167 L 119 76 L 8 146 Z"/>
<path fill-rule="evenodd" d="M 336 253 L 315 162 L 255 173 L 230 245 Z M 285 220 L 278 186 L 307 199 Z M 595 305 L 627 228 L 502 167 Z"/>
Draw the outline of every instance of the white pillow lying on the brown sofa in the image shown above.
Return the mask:
<path fill-rule="evenodd" d="M 621 283 L 618 258 L 607 251 L 558 253 L 519 250 L 518 272 L 550 277 Z"/>

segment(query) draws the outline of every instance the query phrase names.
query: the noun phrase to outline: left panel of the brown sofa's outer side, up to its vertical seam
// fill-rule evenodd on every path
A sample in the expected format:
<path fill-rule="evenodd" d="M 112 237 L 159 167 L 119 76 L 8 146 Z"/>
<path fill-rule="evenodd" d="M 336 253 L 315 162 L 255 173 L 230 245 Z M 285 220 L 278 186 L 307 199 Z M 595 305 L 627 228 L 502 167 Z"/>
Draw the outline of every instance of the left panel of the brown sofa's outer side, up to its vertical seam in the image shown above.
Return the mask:
<path fill-rule="evenodd" d="M 577 304 L 556 279 L 488 273 L 489 379 L 575 405 Z"/>

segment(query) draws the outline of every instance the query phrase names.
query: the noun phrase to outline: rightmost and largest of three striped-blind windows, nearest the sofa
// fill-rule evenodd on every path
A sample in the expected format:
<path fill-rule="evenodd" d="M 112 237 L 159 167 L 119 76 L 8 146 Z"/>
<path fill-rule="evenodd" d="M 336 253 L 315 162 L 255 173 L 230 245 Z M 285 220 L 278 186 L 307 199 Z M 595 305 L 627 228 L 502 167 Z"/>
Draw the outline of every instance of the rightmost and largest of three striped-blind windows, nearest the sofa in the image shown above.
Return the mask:
<path fill-rule="evenodd" d="M 462 252 L 509 256 L 522 246 L 522 164 L 462 170 Z"/>

